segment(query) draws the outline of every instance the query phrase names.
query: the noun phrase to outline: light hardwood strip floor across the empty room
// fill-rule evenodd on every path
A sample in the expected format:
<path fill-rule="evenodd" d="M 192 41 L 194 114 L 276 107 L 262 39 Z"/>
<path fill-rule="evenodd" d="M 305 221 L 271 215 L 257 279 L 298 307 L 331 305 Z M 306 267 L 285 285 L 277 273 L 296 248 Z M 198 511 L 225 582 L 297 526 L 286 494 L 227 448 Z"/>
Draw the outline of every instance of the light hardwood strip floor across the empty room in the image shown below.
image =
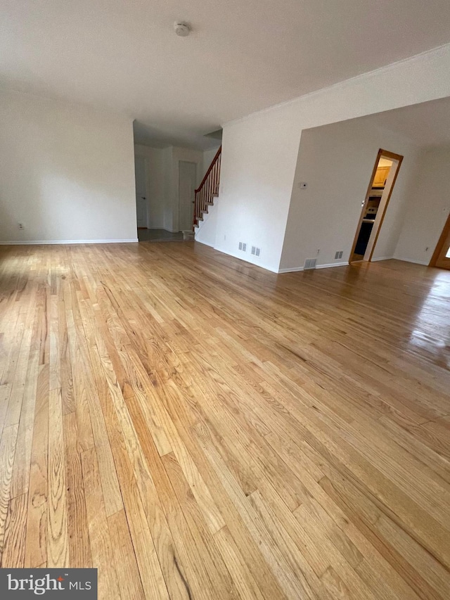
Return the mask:
<path fill-rule="evenodd" d="M 4 567 L 99 598 L 450 598 L 450 272 L 0 247 Z"/>

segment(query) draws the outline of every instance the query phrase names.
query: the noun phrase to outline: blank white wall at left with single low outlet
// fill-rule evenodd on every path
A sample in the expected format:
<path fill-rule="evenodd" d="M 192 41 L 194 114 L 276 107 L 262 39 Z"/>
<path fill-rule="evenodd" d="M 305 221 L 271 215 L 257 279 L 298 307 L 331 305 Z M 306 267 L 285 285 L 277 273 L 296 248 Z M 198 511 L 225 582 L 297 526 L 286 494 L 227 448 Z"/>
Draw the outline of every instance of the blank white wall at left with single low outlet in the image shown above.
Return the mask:
<path fill-rule="evenodd" d="M 136 240 L 131 119 L 1 91 L 0 241 L 83 240 Z"/>

